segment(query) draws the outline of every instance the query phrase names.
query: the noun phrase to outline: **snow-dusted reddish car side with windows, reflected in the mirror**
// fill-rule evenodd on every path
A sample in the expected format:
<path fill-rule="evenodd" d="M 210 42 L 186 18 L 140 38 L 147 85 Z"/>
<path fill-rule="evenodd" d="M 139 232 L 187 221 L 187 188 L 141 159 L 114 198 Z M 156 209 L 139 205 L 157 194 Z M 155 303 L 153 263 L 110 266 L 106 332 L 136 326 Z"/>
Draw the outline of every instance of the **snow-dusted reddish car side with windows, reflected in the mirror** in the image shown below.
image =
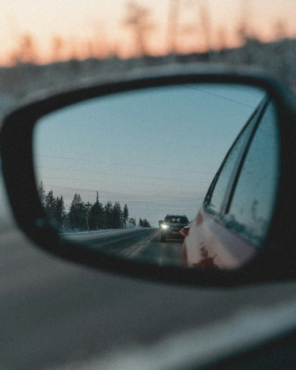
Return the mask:
<path fill-rule="evenodd" d="M 232 145 L 184 240 L 181 262 L 234 269 L 262 248 L 279 176 L 275 107 L 263 99 Z"/>

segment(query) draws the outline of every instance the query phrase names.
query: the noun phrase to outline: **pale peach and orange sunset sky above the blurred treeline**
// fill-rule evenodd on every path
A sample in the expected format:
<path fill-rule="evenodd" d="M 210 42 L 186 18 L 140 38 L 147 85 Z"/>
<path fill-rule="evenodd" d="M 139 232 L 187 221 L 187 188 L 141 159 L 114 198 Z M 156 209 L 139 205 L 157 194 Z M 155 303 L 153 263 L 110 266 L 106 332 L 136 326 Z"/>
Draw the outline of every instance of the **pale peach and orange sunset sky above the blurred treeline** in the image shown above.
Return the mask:
<path fill-rule="evenodd" d="M 149 53 L 154 55 L 169 51 L 168 20 L 174 4 L 178 17 L 173 17 L 171 23 L 176 22 L 176 49 L 182 53 L 237 46 L 237 30 L 242 21 L 248 34 L 262 41 L 296 36 L 295 0 L 137 0 L 134 3 L 150 10 L 152 27 L 148 43 Z M 11 55 L 21 50 L 25 34 L 34 40 L 38 63 L 90 54 L 104 57 L 111 53 L 125 58 L 136 55 L 134 34 L 130 27 L 124 26 L 127 14 L 127 0 L 1 0 L 0 64 L 11 63 Z M 205 34 L 209 35 L 207 41 Z M 54 56 L 54 37 L 62 41 L 58 57 Z"/>

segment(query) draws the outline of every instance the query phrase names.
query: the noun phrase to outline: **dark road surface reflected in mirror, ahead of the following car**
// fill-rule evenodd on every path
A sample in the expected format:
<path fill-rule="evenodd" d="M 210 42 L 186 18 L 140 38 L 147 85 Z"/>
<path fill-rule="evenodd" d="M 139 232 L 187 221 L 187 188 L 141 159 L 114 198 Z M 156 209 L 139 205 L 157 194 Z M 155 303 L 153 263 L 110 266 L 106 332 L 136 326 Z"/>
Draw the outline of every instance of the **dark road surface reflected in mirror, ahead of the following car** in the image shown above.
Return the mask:
<path fill-rule="evenodd" d="M 73 239 L 104 254 L 157 265 L 178 265 L 183 243 L 183 239 L 169 238 L 161 242 L 160 229 L 154 228 L 123 229 L 107 235 L 104 232 L 78 237 L 67 235 L 65 239 Z"/>

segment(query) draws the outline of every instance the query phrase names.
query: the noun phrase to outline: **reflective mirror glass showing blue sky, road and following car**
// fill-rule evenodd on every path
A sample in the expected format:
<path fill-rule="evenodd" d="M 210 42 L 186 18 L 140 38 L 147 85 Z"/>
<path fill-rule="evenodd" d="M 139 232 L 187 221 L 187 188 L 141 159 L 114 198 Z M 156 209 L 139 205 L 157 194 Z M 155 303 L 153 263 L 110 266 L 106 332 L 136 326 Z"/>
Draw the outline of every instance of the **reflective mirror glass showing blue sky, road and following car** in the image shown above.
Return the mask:
<path fill-rule="evenodd" d="M 118 258 L 238 268 L 262 243 L 276 198 L 279 135 L 276 110 L 267 99 L 265 91 L 246 85 L 170 85 L 92 98 L 45 115 L 34 128 L 33 154 L 48 219 L 61 238 Z M 206 209 L 202 203 L 212 180 L 247 122 L 223 172 L 224 187 L 215 192 L 219 209 L 210 202 Z M 257 155 L 258 178 L 248 178 L 258 162 L 253 154 L 243 171 L 245 185 L 227 208 L 233 178 L 258 127 L 252 150 L 265 145 Z M 261 239 L 249 238 L 242 227 L 258 225 L 266 198 Z M 232 239 L 222 240 L 213 220 Z"/>

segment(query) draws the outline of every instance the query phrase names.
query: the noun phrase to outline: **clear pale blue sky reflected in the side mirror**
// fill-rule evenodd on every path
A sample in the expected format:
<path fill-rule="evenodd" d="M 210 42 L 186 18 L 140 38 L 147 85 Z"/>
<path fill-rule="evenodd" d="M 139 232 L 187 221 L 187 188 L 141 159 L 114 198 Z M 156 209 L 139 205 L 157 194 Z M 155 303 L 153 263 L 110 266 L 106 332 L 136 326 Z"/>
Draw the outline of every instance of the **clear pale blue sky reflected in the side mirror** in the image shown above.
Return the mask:
<path fill-rule="evenodd" d="M 151 225 L 194 218 L 226 152 L 263 97 L 240 85 L 188 84 L 94 98 L 48 114 L 34 132 L 46 192 L 127 203 Z"/>

